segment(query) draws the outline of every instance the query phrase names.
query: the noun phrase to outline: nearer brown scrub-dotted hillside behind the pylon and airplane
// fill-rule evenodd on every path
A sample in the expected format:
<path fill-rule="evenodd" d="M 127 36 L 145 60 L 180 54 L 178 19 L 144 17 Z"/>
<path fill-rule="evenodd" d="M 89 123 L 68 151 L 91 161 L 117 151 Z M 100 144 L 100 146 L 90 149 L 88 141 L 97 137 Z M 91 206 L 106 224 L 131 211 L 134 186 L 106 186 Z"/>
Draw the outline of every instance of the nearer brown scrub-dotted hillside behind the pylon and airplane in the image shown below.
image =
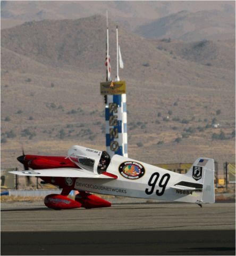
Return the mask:
<path fill-rule="evenodd" d="M 109 20 L 113 78 L 115 26 Z M 104 149 L 105 35 L 102 15 L 1 30 L 2 167 L 18 164 L 21 145 L 27 154 L 66 155 L 74 144 Z M 147 40 L 122 26 L 119 35 L 129 156 L 149 163 L 199 155 L 233 161 L 235 43 Z M 212 139 L 221 131 L 222 140 Z"/>

